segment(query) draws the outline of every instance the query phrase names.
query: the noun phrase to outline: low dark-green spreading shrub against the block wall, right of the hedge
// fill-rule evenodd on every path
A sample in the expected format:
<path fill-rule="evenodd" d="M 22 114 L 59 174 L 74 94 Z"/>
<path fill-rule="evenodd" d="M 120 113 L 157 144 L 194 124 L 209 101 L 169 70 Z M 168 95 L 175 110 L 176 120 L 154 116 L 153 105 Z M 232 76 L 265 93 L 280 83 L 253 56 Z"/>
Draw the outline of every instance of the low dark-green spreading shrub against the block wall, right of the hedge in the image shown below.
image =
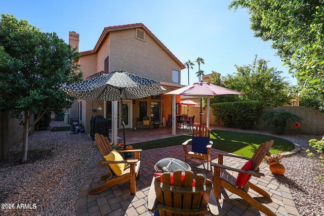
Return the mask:
<path fill-rule="evenodd" d="M 275 134 L 283 134 L 288 122 L 300 121 L 302 119 L 288 110 L 267 112 L 263 114 L 262 118 L 268 125 L 274 127 Z"/>

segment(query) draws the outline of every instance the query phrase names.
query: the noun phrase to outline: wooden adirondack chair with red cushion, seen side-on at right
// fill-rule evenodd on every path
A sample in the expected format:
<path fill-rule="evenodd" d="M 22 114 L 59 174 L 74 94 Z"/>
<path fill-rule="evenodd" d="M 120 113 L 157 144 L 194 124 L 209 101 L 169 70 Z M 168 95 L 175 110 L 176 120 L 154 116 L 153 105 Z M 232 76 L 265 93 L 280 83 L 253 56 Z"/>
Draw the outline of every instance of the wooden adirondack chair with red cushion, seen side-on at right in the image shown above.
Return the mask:
<path fill-rule="evenodd" d="M 266 215 L 276 215 L 265 205 L 261 204 L 259 201 L 251 197 L 248 194 L 249 188 L 255 192 L 261 194 L 262 196 L 270 199 L 270 195 L 259 188 L 258 186 L 252 184 L 250 179 L 252 176 L 261 177 L 264 174 L 259 172 L 259 165 L 261 164 L 263 158 L 269 152 L 273 145 L 273 140 L 262 143 L 256 150 L 252 158 L 241 157 L 238 155 L 228 154 L 227 152 L 217 152 L 218 163 L 212 162 L 211 165 L 214 167 L 214 194 L 218 200 L 220 197 L 219 191 L 220 186 L 227 189 L 228 191 L 242 197 L 244 200 L 249 202 L 252 206 L 259 209 Z M 232 168 L 223 165 L 223 157 L 236 157 L 248 160 L 248 162 L 241 168 Z M 250 166 L 250 167 L 249 167 Z M 238 175 L 237 175 L 238 174 Z"/>

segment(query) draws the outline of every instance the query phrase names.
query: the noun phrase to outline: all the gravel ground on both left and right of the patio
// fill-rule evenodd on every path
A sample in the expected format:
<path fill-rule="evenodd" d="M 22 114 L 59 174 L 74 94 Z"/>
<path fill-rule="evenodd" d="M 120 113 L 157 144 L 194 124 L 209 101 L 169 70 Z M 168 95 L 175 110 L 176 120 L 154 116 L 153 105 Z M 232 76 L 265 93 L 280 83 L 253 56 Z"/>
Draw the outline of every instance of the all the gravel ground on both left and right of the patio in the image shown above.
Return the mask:
<path fill-rule="evenodd" d="M 54 121 L 53 126 L 66 126 Z M 242 131 L 232 128 L 221 128 Z M 274 136 L 274 135 L 272 135 Z M 324 172 L 317 157 L 308 157 L 308 140 L 320 136 L 278 136 L 301 146 L 301 152 L 282 159 L 286 183 L 301 215 L 324 215 Z M 36 131 L 29 137 L 28 162 L 20 163 L 22 143 L 10 150 L 0 163 L 0 215 L 75 215 L 83 182 L 101 160 L 87 134 Z M 9 209 L 14 207 L 14 209 Z M 18 207 L 18 208 L 17 208 Z M 20 207 L 20 208 L 19 208 Z"/>

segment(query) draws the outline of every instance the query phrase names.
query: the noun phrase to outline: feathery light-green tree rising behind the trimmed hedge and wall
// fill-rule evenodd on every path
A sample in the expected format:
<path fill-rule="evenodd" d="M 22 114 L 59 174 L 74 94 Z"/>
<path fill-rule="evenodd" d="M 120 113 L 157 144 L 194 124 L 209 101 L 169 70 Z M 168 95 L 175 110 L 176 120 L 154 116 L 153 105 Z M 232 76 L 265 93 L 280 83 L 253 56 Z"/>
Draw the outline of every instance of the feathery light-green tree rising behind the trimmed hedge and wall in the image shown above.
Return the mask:
<path fill-rule="evenodd" d="M 264 59 L 257 59 L 250 65 L 236 67 L 236 73 L 226 75 L 224 85 L 228 89 L 245 93 L 241 97 L 245 101 L 260 101 L 263 106 L 282 106 L 289 104 L 289 83 L 281 77 L 281 71 L 268 67 Z"/>

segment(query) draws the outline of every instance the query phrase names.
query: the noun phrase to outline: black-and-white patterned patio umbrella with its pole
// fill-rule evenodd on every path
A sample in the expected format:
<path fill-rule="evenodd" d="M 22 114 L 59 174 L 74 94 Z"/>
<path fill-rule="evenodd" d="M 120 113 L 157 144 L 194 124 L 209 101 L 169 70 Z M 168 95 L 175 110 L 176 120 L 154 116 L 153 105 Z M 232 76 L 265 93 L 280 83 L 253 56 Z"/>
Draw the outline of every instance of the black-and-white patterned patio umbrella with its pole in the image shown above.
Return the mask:
<path fill-rule="evenodd" d="M 62 88 L 68 95 L 86 101 L 104 100 L 119 101 L 123 99 L 139 99 L 163 93 L 158 81 L 141 77 L 123 70 L 112 71 L 108 74 L 67 85 Z M 123 125 L 124 146 L 125 123 L 121 109 L 121 124 Z"/>

